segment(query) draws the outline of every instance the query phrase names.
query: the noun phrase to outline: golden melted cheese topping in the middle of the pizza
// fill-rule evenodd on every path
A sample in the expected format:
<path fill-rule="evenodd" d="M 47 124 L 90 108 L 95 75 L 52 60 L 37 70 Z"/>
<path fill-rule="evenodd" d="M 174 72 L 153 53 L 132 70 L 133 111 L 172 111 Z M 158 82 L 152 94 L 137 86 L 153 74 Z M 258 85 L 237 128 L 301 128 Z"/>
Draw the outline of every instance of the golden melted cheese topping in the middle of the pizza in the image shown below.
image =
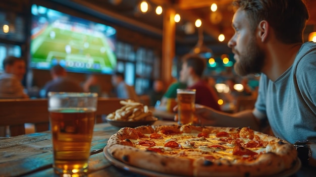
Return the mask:
<path fill-rule="evenodd" d="M 226 159 L 231 162 L 236 159 L 247 157 L 247 155 L 236 156 L 233 155 L 234 144 L 221 141 L 221 138 L 216 137 L 215 134 L 209 134 L 208 138 L 197 137 L 200 132 L 183 133 L 176 135 L 162 135 L 163 139 L 151 139 L 150 134 L 145 134 L 147 138 L 140 138 L 138 140 L 131 140 L 137 149 L 146 150 L 149 146 L 139 145 L 138 142 L 142 140 L 150 140 L 155 142 L 155 146 L 150 148 L 162 149 L 164 155 L 186 156 L 188 158 L 198 158 L 201 156 L 212 156 L 214 159 Z M 224 138 L 225 139 L 225 138 Z M 243 144 L 250 140 L 245 138 L 238 138 Z M 181 148 L 165 147 L 169 141 L 175 141 L 181 145 Z M 219 146 L 218 146 L 219 145 Z M 214 146 L 214 147 L 212 147 Z M 265 148 L 247 148 L 256 153 L 265 152 Z"/>

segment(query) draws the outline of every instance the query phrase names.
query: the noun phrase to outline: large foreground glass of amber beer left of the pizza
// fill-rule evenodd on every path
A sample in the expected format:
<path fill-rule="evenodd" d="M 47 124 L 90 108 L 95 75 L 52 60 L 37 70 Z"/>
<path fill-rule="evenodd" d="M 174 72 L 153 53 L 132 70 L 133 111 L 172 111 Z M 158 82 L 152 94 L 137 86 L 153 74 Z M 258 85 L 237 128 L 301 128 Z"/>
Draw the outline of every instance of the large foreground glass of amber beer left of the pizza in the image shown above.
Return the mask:
<path fill-rule="evenodd" d="M 56 173 L 87 172 L 96 104 L 97 93 L 48 93 Z"/>

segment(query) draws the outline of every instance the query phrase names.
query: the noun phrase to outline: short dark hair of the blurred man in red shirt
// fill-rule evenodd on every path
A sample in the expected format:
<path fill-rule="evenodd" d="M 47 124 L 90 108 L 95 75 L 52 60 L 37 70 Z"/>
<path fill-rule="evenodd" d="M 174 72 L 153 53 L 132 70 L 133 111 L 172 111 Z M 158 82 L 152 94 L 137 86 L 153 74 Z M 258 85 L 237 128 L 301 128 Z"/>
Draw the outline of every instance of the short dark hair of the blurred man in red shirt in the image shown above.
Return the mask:
<path fill-rule="evenodd" d="M 202 77 L 206 66 L 206 58 L 202 58 L 197 54 L 186 54 L 182 58 L 183 63 L 187 63 L 187 67 L 192 67 L 194 73 Z"/>

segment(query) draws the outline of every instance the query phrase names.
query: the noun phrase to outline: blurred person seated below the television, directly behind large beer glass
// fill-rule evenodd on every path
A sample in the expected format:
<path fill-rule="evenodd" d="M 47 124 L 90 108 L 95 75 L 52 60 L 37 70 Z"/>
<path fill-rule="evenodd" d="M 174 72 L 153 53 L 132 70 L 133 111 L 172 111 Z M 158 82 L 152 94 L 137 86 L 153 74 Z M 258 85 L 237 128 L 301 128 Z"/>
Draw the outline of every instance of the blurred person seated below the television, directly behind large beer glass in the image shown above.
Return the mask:
<path fill-rule="evenodd" d="M 47 97 L 48 92 L 84 92 L 79 82 L 67 77 L 67 71 L 61 65 L 52 67 L 50 75 L 52 80 L 40 91 L 41 97 Z"/>

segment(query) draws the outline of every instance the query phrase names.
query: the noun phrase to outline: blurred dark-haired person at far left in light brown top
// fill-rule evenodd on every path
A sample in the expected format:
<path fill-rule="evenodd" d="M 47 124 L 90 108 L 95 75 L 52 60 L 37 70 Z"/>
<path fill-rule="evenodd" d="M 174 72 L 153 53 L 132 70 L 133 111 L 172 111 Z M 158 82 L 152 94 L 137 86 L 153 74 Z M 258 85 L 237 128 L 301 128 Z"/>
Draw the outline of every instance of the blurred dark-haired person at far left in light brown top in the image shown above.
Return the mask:
<path fill-rule="evenodd" d="M 28 98 L 21 84 L 26 72 L 24 59 L 7 56 L 3 67 L 5 73 L 0 75 L 0 98 Z"/>

